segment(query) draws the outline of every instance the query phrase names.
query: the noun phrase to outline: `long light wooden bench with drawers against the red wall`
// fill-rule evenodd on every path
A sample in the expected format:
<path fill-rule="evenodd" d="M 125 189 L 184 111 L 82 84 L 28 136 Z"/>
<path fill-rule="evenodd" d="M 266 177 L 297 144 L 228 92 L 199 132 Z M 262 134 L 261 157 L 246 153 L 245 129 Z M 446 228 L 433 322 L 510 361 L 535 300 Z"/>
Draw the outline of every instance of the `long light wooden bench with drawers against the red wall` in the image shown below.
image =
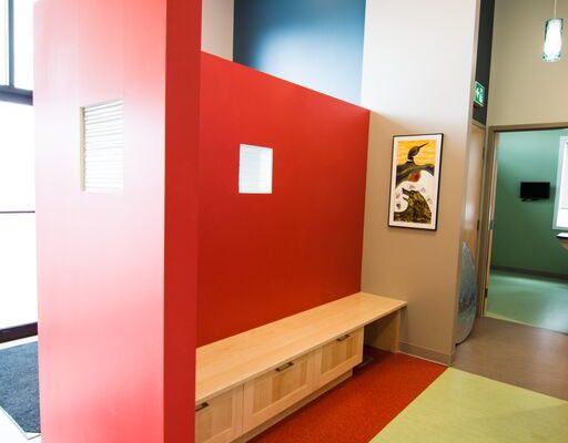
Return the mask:
<path fill-rule="evenodd" d="M 398 351 L 405 306 L 358 292 L 199 348 L 196 442 L 252 439 L 348 378 L 364 341 Z"/>

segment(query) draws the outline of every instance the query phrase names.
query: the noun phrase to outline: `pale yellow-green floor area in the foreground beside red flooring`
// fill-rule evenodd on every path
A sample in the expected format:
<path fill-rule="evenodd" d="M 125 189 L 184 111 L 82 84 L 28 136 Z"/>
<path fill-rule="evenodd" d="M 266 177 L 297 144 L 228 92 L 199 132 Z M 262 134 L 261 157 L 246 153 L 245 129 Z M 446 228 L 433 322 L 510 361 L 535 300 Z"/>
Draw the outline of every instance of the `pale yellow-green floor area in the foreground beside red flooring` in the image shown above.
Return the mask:
<path fill-rule="evenodd" d="M 567 443 L 568 402 L 448 369 L 373 440 L 414 442 Z"/>

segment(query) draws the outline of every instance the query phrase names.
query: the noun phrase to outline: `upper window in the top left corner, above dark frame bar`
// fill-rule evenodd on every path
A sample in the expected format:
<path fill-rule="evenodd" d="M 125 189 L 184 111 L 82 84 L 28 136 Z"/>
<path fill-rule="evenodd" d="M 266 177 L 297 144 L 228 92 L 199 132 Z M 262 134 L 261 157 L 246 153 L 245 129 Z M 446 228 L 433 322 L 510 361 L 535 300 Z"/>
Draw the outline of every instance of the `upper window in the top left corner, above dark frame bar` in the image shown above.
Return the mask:
<path fill-rule="evenodd" d="M 0 0 L 0 101 L 31 104 L 34 0 Z"/>

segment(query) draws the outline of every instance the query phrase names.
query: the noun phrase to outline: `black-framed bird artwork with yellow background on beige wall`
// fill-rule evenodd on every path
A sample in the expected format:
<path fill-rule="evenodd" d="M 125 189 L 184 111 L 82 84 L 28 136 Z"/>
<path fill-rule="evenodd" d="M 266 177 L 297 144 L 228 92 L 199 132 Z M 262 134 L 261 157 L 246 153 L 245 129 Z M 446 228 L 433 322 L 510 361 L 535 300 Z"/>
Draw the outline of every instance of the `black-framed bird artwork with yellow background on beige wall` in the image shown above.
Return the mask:
<path fill-rule="evenodd" d="M 388 226 L 436 230 L 444 134 L 395 135 Z"/>

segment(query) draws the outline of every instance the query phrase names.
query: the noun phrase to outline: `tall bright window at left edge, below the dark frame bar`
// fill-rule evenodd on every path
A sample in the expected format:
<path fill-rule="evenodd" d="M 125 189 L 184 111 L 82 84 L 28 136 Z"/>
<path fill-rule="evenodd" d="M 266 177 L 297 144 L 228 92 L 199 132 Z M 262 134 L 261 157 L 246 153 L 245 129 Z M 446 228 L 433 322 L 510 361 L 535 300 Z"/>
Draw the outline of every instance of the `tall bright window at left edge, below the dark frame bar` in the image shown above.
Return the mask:
<path fill-rule="evenodd" d="M 1 330 L 38 321 L 33 107 L 0 101 L 0 126 Z"/>

